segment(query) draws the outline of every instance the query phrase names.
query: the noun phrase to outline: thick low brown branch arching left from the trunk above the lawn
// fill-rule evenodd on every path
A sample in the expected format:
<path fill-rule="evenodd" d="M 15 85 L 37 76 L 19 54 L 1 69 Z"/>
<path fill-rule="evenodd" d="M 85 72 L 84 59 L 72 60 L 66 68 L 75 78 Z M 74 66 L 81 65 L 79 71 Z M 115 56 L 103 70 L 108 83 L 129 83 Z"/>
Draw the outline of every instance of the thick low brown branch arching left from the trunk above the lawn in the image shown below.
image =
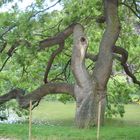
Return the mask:
<path fill-rule="evenodd" d="M 3 96 L 0 96 L 0 104 L 11 99 L 16 99 L 20 107 L 27 108 L 29 107 L 30 100 L 35 104 L 42 97 L 48 94 L 70 94 L 75 98 L 73 90 L 73 85 L 66 83 L 48 83 L 40 86 L 27 95 L 24 95 L 25 92 L 22 89 L 14 89 Z"/>

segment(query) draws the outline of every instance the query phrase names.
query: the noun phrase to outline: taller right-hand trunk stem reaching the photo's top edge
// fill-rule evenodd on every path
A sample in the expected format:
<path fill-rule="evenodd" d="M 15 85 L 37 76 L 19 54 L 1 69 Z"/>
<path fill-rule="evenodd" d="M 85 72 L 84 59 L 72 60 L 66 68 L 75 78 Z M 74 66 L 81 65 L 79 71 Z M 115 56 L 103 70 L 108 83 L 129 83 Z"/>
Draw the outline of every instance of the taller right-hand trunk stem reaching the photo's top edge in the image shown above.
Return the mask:
<path fill-rule="evenodd" d="M 105 33 L 103 34 L 103 38 L 100 43 L 98 60 L 95 64 L 95 69 L 93 72 L 93 79 L 96 83 L 96 104 L 98 106 L 98 101 L 102 99 L 102 107 L 101 107 L 101 124 L 104 122 L 104 112 L 105 112 L 105 97 L 106 97 L 106 88 L 107 82 L 109 80 L 112 62 L 113 62 L 113 53 L 112 48 L 115 45 L 120 31 L 120 24 L 118 18 L 118 1 L 117 0 L 105 0 L 105 17 L 107 27 Z M 97 114 L 97 109 L 94 111 Z M 97 122 L 97 115 L 96 115 Z"/>

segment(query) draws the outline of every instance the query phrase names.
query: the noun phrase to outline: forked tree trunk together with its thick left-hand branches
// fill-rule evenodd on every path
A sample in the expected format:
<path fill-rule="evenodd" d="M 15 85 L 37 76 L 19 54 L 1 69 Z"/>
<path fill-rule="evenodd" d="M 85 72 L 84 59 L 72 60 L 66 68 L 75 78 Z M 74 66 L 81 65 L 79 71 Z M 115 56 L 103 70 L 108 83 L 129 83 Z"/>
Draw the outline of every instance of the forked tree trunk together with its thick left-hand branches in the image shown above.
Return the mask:
<path fill-rule="evenodd" d="M 87 54 L 88 41 L 84 29 L 80 24 L 72 24 L 55 37 L 40 42 L 40 48 L 51 47 L 59 44 L 60 48 L 52 54 L 48 62 L 44 81 L 46 84 L 40 86 L 31 94 L 24 95 L 20 89 L 12 90 L 0 97 L 0 104 L 16 99 L 23 108 L 29 106 L 30 100 L 33 103 L 40 100 L 47 94 L 70 94 L 76 100 L 75 121 L 79 128 L 86 128 L 97 124 L 98 103 L 101 100 L 101 124 L 104 122 L 107 82 L 111 74 L 113 61 L 113 46 L 118 39 L 120 25 L 118 19 L 118 0 L 104 0 L 105 17 L 107 27 L 99 46 L 99 54 L 92 57 Z M 55 56 L 64 48 L 65 39 L 73 33 L 74 46 L 71 57 L 71 68 L 75 77 L 74 85 L 67 83 L 50 83 L 48 74 Z M 61 48 L 62 47 L 62 48 Z M 89 75 L 85 67 L 85 58 L 96 59 L 92 75 Z"/>

